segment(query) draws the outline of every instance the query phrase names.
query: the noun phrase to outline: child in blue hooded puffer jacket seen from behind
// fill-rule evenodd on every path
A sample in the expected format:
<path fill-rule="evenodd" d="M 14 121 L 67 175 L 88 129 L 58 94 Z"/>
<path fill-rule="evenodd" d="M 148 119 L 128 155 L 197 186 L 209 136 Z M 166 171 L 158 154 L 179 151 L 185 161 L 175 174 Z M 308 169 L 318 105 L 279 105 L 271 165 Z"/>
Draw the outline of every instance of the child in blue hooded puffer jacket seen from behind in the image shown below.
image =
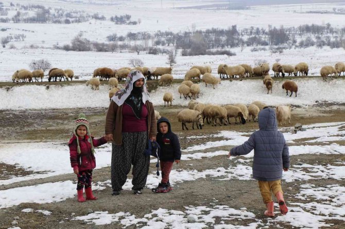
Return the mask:
<path fill-rule="evenodd" d="M 253 178 L 258 180 L 261 195 L 266 204 L 265 216 L 274 216 L 272 194 L 277 197 L 280 212 L 285 215 L 287 207 L 280 180 L 282 170 L 290 166 L 289 149 L 283 133 L 278 130 L 275 111 L 264 108 L 258 113 L 260 130 L 255 131 L 244 144 L 232 148 L 230 156 L 246 155 L 254 149 Z"/>

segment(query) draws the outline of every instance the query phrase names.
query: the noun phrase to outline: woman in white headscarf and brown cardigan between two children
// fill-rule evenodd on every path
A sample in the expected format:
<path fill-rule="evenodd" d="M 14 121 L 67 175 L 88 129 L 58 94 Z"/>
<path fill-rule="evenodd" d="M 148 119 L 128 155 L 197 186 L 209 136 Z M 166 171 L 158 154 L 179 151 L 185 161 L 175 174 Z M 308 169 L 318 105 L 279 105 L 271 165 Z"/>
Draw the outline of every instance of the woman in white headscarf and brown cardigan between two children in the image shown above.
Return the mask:
<path fill-rule="evenodd" d="M 148 175 L 150 156 L 145 156 L 147 140 L 156 141 L 157 120 L 146 88 L 144 75 L 131 71 L 125 88 L 111 99 L 106 117 L 106 139 L 112 140 L 111 186 L 117 196 L 133 165 L 132 190 L 142 194 Z"/>

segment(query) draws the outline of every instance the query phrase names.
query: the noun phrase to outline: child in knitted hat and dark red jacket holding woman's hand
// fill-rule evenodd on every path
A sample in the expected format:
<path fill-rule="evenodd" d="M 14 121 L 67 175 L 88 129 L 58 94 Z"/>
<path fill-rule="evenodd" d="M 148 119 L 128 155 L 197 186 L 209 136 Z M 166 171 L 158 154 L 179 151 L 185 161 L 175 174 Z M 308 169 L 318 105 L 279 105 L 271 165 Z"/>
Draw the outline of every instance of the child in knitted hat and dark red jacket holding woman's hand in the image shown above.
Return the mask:
<path fill-rule="evenodd" d="M 73 137 L 68 142 L 71 166 L 78 177 L 77 194 L 79 202 L 85 201 L 83 197 L 84 187 L 87 200 L 97 199 L 92 194 L 91 189 L 92 170 L 96 167 L 95 150 L 93 147 L 106 143 L 107 140 L 105 137 L 101 137 L 100 139 L 91 137 L 89 121 L 83 113 L 79 114 L 79 118 L 75 122 Z"/>

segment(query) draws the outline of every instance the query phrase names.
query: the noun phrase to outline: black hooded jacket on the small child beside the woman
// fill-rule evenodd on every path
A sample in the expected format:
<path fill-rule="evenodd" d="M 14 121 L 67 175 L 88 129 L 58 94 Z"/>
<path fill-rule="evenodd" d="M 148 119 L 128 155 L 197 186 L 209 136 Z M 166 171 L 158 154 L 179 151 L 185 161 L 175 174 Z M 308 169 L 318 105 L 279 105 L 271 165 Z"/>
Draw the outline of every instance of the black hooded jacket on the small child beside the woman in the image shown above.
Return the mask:
<path fill-rule="evenodd" d="M 159 124 L 161 122 L 166 122 L 168 124 L 169 129 L 165 135 L 163 135 L 163 133 L 161 133 L 161 131 L 159 130 Z M 167 118 L 162 117 L 157 121 L 156 141 L 161 148 L 160 150 L 161 161 L 174 162 L 175 160 L 181 159 L 181 147 L 180 147 L 179 139 L 177 135 L 175 135 L 175 133 L 171 131 L 171 125 Z"/>

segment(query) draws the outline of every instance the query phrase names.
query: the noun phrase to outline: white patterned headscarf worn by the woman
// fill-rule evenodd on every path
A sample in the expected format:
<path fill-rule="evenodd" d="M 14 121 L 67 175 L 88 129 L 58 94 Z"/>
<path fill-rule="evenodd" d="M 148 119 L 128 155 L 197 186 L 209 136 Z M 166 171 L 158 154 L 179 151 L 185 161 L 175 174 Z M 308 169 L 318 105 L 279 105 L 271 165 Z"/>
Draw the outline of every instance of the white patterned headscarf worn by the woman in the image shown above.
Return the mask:
<path fill-rule="evenodd" d="M 129 97 L 129 95 L 131 94 L 131 91 L 133 90 L 133 83 L 141 78 L 144 79 L 143 92 L 142 92 L 143 103 L 145 103 L 146 101 L 151 102 L 150 96 L 146 88 L 146 79 L 144 75 L 138 70 L 132 70 L 131 72 L 129 72 L 126 78 L 125 85 L 124 85 L 125 87 L 118 90 L 111 99 L 118 106 L 124 104 L 125 100 Z"/>

